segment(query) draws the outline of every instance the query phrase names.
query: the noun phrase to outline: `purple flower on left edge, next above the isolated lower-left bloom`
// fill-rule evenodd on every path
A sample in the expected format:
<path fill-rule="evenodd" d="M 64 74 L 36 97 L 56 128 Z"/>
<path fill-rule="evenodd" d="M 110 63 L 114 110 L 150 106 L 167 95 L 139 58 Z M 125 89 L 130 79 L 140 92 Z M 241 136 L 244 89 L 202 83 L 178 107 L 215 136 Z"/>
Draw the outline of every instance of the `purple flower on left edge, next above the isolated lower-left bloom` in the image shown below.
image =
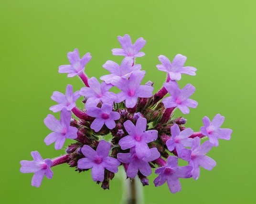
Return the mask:
<path fill-rule="evenodd" d="M 46 145 L 55 142 L 55 149 L 61 149 L 66 138 L 75 139 L 77 137 L 77 128 L 70 126 L 71 117 L 71 112 L 63 108 L 60 121 L 50 114 L 43 120 L 44 124 L 53 131 L 53 133 L 45 137 L 44 142 Z"/>

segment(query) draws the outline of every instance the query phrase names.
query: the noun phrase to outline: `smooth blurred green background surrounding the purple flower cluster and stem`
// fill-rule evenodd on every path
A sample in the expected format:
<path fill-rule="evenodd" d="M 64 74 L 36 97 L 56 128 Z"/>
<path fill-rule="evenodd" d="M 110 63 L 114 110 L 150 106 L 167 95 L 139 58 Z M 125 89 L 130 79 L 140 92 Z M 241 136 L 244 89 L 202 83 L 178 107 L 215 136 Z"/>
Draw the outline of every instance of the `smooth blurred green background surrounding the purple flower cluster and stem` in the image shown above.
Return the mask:
<path fill-rule="evenodd" d="M 32 174 L 19 172 L 19 162 L 31 160 L 34 150 L 44 158 L 64 153 L 43 143 L 50 133 L 43 119 L 55 104 L 53 91 L 83 86 L 78 78 L 58 73 L 58 66 L 68 63 L 66 53 L 75 48 L 80 55 L 91 52 L 86 73 L 99 78 L 107 73 L 102 65 L 108 59 L 121 61 L 111 49 L 120 48 L 117 36 L 126 33 L 133 41 L 147 40 L 146 56 L 137 63 L 147 71 L 144 82 L 155 82 L 155 91 L 165 79 L 156 68 L 160 54 L 172 59 L 181 53 L 188 57 L 187 66 L 198 69 L 195 77 L 185 75 L 179 82 L 196 87 L 192 98 L 199 106 L 185 115 L 188 127 L 198 131 L 204 116 L 220 113 L 226 118 L 223 127 L 233 129 L 231 140 L 220 141 L 209 153 L 217 162 L 213 171 L 201 169 L 197 181 L 181 179 L 177 194 L 166 184 L 154 187 L 152 174 L 143 188 L 145 202 L 254 203 L 255 10 L 255 0 L 0 0 L 1 203 L 119 203 L 118 178 L 104 191 L 90 172 L 78 174 L 60 165 L 53 168 L 52 180 L 44 178 L 36 188 L 30 185 Z"/>

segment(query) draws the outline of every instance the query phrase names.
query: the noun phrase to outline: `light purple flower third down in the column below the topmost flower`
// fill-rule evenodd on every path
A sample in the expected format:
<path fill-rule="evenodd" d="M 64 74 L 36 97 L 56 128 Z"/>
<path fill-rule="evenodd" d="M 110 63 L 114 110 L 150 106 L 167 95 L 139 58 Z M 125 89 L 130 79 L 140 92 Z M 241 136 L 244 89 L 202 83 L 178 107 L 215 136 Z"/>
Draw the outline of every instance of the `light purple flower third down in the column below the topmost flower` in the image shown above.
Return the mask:
<path fill-rule="evenodd" d="M 112 84 L 121 90 L 115 102 L 120 103 L 125 100 L 126 107 L 134 107 L 138 97 L 152 97 L 154 88 L 140 85 L 145 73 L 145 71 L 137 71 L 133 72 L 128 80 L 120 78 L 120 80 L 113 81 Z"/>

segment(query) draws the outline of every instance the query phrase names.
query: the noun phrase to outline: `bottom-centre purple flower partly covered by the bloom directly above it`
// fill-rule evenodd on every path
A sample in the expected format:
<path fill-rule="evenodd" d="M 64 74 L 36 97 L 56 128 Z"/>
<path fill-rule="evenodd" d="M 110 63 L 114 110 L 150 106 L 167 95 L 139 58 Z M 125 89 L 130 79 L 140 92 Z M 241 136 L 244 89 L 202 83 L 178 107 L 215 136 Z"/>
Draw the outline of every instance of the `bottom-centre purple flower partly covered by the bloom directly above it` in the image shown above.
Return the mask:
<path fill-rule="evenodd" d="M 118 153 L 117 159 L 122 163 L 129 164 L 127 169 L 127 176 L 130 178 L 134 178 L 138 171 L 142 175 L 149 176 L 152 173 L 149 162 L 156 160 L 160 157 L 160 153 L 157 148 L 151 148 L 150 155 L 148 157 L 140 158 L 135 152 L 135 148 L 131 148 L 129 153 Z"/>

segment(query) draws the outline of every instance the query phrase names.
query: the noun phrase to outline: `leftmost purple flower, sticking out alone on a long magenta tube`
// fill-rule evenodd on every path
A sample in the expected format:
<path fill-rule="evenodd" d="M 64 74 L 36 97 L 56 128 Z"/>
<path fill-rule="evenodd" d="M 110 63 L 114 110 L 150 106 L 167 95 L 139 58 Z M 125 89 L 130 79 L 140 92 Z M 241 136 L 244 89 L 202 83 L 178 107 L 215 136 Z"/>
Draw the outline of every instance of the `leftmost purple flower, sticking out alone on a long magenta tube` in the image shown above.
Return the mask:
<path fill-rule="evenodd" d="M 32 186 L 39 187 L 42 183 L 43 176 L 51 179 L 53 177 L 53 171 L 51 170 L 51 165 L 53 162 L 51 159 L 44 159 L 38 153 L 38 151 L 31 152 L 33 161 L 22 160 L 21 173 L 34 173 L 31 181 Z"/>

